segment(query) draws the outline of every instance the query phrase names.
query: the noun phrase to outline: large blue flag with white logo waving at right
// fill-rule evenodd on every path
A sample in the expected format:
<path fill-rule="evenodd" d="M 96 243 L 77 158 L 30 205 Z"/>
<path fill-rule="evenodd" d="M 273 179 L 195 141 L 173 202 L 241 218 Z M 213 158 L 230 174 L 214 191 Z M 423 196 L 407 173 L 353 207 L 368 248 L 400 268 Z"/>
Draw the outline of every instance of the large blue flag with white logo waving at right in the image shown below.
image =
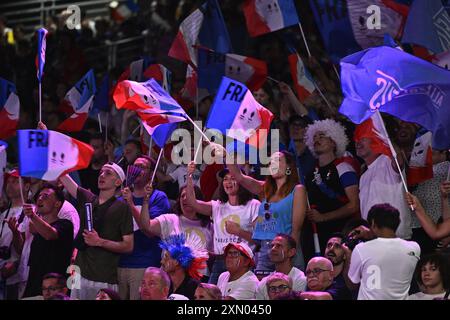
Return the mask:
<path fill-rule="evenodd" d="M 434 148 L 450 148 L 450 71 L 383 46 L 342 59 L 341 82 L 339 111 L 353 122 L 380 110 L 432 131 Z"/>

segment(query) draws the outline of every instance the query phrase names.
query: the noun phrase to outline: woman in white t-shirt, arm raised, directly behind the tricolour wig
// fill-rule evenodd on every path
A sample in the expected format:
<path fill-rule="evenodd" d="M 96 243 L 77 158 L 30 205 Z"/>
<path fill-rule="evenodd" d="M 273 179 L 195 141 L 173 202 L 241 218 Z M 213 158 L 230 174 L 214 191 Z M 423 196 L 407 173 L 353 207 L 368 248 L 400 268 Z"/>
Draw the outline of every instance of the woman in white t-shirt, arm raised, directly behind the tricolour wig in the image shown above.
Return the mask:
<path fill-rule="evenodd" d="M 137 221 L 139 229 L 148 237 L 160 237 L 166 239 L 168 236 L 186 233 L 196 234 L 204 248 L 208 252 L 212 251 L 212 228 L 208 217 L 198 214 L 198 212 L 188 204 L 186 200 L 186 187 L 181 188 L 174 211 L 175 213 L 162 214 L 155 219 L 150 219 L 149 214 L 143 214 L 148 211 L 148 203 L 153 188 L 148 184 L 145 187 L 146 195 L 142 203 L 141 214 Z M 195 194 L 203 198 L 200 188 L 195 187 Z"/>

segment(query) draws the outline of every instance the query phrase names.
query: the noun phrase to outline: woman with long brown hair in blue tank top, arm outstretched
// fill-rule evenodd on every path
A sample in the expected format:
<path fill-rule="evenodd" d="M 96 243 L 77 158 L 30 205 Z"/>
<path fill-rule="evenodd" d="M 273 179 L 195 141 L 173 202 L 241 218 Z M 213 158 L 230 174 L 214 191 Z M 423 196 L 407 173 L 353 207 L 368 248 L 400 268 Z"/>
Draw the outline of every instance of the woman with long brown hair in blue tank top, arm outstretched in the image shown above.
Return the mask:
<path fill-rule="evenodd" d="M 261 245 L 257 254 L 256 271 L 273 271 L 274 265 L 269 259 L 271 241 L 278 233 L 284 233 L 291 235 L 298 243 L 305 218 L 306 191 L 299 184 L 295 158 L 287 151 L 272 154 L 270 175 L 266 176 L 265 181 L 242 174 L 235 164 L 228 165 L 228 168 L 239 185 L 253 194 L 262 195 L 263 201 L 252 236 Z M 298 251 L 294 265 L 302 268 L 302 260 Z"/>

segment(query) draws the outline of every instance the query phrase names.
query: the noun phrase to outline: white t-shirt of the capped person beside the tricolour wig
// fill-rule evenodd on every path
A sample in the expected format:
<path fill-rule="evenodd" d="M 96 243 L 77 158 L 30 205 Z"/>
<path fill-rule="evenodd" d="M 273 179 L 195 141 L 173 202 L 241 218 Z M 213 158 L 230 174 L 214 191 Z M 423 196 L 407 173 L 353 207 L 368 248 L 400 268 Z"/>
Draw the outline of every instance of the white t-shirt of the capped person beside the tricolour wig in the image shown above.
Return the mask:
<path fill-rule="evenodd" d="M 258 278 L 251 271 L 244 273 L 239 279 L 229 281 L 230 273 L 223 272 L 217 281 L 217 287 L 223 297 L 230 296 L 235 300 L 254 300 L 258 288 Z"/>

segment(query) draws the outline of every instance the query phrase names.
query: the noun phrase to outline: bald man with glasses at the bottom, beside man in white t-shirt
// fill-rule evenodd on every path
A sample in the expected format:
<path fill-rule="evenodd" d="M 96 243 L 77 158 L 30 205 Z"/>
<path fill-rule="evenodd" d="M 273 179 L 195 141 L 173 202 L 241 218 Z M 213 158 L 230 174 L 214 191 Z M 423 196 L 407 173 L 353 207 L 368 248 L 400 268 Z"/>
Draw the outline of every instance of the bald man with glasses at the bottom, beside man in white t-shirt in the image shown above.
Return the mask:
<path fill-rule="evenodd" d="M 306 266 L 307 291 L 301 296 L 309 300 L 348 300 L 349 295 L 333 278 L 333 263 L 324 257 L 314 257 Z"/>

